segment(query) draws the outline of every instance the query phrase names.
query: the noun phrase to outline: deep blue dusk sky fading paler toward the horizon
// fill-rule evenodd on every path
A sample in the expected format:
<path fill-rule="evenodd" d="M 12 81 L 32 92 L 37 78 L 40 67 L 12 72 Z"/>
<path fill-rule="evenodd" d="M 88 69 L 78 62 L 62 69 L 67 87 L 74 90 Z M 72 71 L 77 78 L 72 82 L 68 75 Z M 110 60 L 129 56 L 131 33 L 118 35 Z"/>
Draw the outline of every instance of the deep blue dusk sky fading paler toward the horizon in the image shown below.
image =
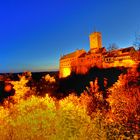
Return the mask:
<path fill-rule="evenodd" d="M 58 70 L 61 54 L 102 44 L 133 45 L 140 0 L 1 0 L 0 73 Z"/>

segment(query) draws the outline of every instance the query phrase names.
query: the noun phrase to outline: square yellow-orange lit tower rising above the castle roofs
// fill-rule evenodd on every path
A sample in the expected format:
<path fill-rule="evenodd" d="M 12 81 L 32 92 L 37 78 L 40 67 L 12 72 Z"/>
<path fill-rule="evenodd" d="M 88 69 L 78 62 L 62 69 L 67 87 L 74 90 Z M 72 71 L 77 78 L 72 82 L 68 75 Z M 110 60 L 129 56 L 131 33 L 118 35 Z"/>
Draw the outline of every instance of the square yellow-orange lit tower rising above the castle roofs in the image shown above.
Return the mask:
<path fill-rule="evenodd" d="M 102 48 L 102 37 L 100 32 L 93 32 L 89 35 L 90 50 Z"/>

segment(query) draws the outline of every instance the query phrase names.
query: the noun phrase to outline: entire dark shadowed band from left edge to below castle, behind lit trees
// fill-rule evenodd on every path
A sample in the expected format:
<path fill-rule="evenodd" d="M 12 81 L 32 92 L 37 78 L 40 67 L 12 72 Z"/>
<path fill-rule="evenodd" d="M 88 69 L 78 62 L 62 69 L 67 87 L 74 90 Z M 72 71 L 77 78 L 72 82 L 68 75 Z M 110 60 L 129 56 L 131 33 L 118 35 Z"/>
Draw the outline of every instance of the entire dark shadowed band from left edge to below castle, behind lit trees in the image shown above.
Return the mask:
<path fill-rule="evenodd" d="M 118 76 L 122 73 L 126 73 L 126 68 L 118 67 L 99 69 L 97 67 L 93 67 L 85 75 L 72 73 L 67 78 L 62 79 L 59 79 L 59 72 L 34 72 L 31 77 L 26 73 L 7 74 L 5 75 L 5 79 L 19 81 L 20 77 L 18 75 L 25 75 L 29 80 L 27 86 L 35 88 L 37 95 L 44 96 L 46 93 L 49 93 L 51 96 L 61 99 L 72 92 L 78 96 L 81 95 L 84 90 L 87 90 L 86 87 L 90 86 L 90 81 L 94 82 L 97 79 L 99 90 L 106 91 L 107 88 L 111 87 L 118 80 Z M 56 79 L 56 82 L 46 82 L 44 76 L 47 74 L 53 76 Z M 4 86 L 7 85 L 4 81 L 5 80 L 1 81 L 0 91 L 2 94 L 0 96 L 0 100 L 14 94 L 13 88 L 11 91 L 4 91 Z M 105 81 L 107 82 L 106 86 L 104 85 Z M 107 96 L 105 92 L 104 96 Z"/>

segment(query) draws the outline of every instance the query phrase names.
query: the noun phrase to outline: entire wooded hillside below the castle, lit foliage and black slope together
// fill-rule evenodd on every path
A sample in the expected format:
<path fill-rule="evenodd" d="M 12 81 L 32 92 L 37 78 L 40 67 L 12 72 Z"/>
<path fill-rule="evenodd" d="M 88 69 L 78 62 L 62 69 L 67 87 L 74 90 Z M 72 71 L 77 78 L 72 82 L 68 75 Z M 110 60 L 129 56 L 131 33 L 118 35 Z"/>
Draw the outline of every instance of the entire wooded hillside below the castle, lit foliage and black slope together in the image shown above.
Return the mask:
<path fill-rule="evenodd" d="M 139 73 L 140 66 L 92 68 L 64 79 L 27 72 L 1 80 L 1 139 L 138 140 Z"/>

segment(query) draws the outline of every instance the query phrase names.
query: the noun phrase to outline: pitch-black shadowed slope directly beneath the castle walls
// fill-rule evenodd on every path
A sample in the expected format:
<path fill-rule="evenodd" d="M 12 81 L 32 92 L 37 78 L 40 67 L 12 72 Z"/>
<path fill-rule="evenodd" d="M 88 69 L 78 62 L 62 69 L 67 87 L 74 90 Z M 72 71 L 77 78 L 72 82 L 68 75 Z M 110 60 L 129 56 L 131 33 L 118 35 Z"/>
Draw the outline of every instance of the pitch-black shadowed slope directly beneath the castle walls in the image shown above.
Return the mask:
<path fill-rule="evenodd" d="M 118 76 L 122 73 L 126 73 L 126 68 L 99 69 L 93 67 L 85 75 L 72 73 L 69 77 L 60 79 L 58 91 L 65 95 L 71 92 L 80 95 L 87 86 L 90 86 L 90 81 L 95 81 L 95 79 L 98 79 L 99 90 L 105 91 L 118 80 Z M 105 81 L 107 82 L 106 86 L 104 85 Z"/>

